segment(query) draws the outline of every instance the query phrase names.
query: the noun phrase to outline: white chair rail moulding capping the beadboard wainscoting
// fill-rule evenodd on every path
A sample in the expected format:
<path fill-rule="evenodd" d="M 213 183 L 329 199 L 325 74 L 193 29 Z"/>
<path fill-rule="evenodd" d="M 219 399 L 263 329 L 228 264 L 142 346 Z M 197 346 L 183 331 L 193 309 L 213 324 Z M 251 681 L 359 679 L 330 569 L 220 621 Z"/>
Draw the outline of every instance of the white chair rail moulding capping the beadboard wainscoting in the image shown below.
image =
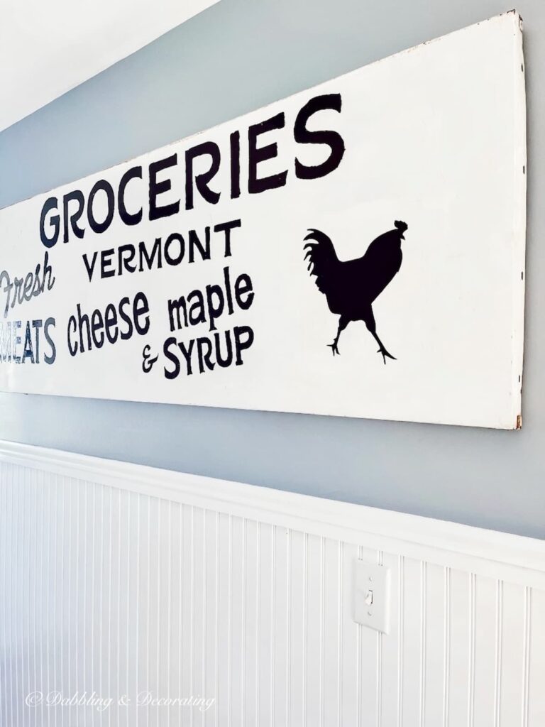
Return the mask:
<path fill-rule="evenodd" d="M 545 590 L 545 541 L 376 507 L 0 441 L 0 462 Z"/>

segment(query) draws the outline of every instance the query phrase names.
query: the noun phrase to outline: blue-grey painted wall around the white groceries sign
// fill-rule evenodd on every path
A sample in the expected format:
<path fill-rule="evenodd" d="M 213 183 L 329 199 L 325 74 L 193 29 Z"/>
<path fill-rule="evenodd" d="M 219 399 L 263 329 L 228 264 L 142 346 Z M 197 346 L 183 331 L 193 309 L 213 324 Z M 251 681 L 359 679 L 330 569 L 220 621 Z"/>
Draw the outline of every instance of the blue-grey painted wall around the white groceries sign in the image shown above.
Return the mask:
<path fill-rule="evenodd" d="M 0 206 L 510 9 L 504 2 L 221 0 L 1 132 Z M 545 3 L 518 10 L 529 109 L 522 432 L 0 394 L 0 438 L 545 537 Z"/>

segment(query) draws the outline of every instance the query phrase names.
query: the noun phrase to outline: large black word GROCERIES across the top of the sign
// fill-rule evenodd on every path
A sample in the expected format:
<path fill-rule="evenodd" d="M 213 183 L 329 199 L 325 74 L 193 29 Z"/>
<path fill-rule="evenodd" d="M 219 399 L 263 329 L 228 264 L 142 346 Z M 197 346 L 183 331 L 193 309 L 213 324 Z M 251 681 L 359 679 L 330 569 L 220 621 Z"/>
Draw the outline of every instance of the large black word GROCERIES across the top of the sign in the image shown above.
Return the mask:
<path fill-rule="evenodd" d="M 52 248 L 59 240 L 82 240 L 89 228 L 91 236 L 102 235 L 116 218 L 130 227 L 143 220 L 153 222 L 182 214 L 182 210 L 189 212 L 203 204 L 217 204 L 222 196 L 236 199 L 243 191 L 256 195 L 278 189 L 287 184 L 288 178 L 326 177 L 342 161 L 344 140 L 339 132 L 323 129 L 313 117 L 330 112 L 330 119 L 331 111 L 341 113 L 341 108 L 341 95 L 336 93 L 315 96 L 299 109 L 292 132 L 297 145 L 289 165 L 293 169 L 284 168 L 286 162 L 278 161 L 277 140 L 283 145 L 288 142 L 286 114 L 280 112 L 251 124 L 245 134 L 231 132 L 221 144 L 199 142 L 179 156 L 171 153 L 146 168 L 137 164 L 121 174 L 124 167 L 120 167 L 116 172 L 121 176 L 116 182 L 97 180 L 91 190 L 70 190 L 62 201 L 51 196 L 41 209 L 41 242 Z M 309 129 L 309 122 L 318 129 Z M 316 147 L 319 152 L 312 153 Z M 310 160 L 317 161 L 316 156 L 318 164 L 309 164 Z"/>

